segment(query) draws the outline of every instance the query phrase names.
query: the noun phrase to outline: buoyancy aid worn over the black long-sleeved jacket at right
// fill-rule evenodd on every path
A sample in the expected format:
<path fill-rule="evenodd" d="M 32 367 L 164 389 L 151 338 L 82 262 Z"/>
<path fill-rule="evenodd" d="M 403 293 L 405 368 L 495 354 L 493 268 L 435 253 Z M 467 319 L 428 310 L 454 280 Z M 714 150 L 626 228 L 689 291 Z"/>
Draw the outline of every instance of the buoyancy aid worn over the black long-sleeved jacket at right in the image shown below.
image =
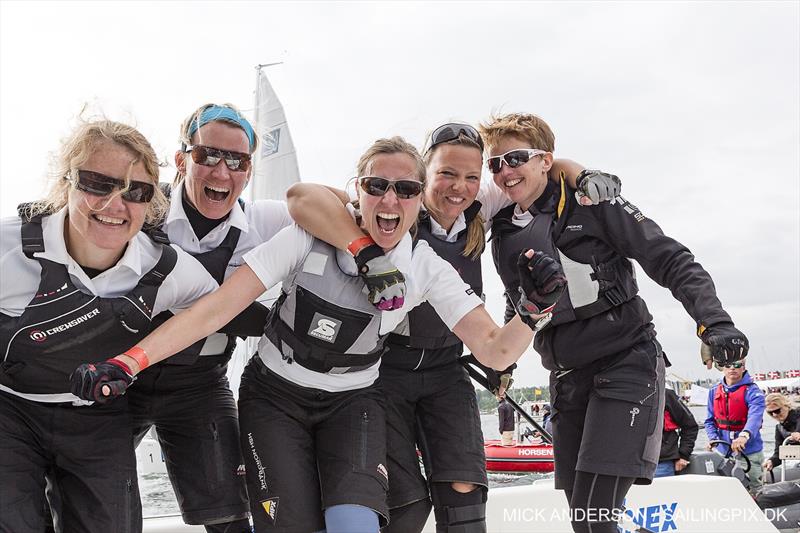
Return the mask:
<path fill-rule="evenodd" d="M 532 248 L 558 258 L 567 277 L 567 293 L 556 308 L 550 325 L 555 326 L 576 320 L 585 320 L 599 315 L 612 307 L 631 300 L 639 292 L 633 264 L 622 256 L 598 261 L 591 253 L 580 253 L 579 246 L 571 247 L 567 256 L 561 248 L 564 244 L 564 229 L 567 223 L 575 223 L 573 217 L 576 200 L 561 180 L 557 193 L 555 183 L 549 182 L 542 198 L 543 205 L 534 203 L 530 213 L 533 221 L 525 227 L 512 222 L 514 205 L 502 209 L 492 221 L 492 257 L 503 280 L 506 296 L 516 304 L 519 301 L 519 254 Z M 581 221 L 582 235 L 593 236 L 593 219 Z M 599 231 L 598 231 L 599 233 Z"/>

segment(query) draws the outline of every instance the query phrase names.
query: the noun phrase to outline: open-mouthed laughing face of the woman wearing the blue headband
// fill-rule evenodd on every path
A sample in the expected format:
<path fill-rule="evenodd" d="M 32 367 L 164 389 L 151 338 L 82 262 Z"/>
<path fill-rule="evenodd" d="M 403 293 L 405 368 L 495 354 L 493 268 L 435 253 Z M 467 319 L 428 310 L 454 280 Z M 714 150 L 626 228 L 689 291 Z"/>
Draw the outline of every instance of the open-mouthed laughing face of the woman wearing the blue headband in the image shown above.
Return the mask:
<path fill-rule="evenodd" d="M 192 135 L 192 143 L 250 153 L 250 141 L 244 130 L 221 121 L 203 125 Z M 195 163 L 191 154 L 184 152 L 175 154 L 175 165 L 184 176 L 186 198 L 204 217 L 213 220 L 228 216 L 250 179 L 249 170 L 229 170 L 224 160 L 206 167 Z"/>

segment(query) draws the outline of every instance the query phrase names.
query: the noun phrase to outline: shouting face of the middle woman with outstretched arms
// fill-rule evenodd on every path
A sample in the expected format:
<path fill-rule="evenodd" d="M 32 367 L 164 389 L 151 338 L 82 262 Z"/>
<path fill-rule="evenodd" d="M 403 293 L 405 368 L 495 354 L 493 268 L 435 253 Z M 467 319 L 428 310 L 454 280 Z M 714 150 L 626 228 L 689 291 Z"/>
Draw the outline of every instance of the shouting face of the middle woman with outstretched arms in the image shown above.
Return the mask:
<path fill-rule="evenodd" d="M 404 153 L 376 155 L 368 174 L 390 181 L 417 180 L 417 163 Z M 422 195 L 400 199 L 390 188 L 383 196 L 372 196 L 357 187 L 361 209 L 361 227 L 385 251 L 391 250 L 417 221 Z"/>

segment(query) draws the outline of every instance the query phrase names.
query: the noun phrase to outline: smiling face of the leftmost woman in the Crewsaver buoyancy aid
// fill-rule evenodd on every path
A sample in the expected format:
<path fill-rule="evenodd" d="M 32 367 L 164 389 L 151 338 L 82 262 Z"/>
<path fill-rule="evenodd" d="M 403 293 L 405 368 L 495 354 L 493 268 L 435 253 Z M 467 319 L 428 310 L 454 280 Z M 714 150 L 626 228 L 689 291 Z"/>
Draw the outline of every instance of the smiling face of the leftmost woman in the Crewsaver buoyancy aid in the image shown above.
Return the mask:
<path fill-rule="evenodd" d="M 136 155 L 112 141 L 101 141 L 80 165 L 81 170 L 92 170 L 118 179 L 153 183 L 144 164 L 136 162 Z M 142 229 L 148 204 L 128 202 L 119 191 L 108 196 L 95 196 L 69 189 L 67 195 L 68 220 L 65 225 L 67 251 L 81 265 L 108 268 L 122 256 L 125 246 Z"/>

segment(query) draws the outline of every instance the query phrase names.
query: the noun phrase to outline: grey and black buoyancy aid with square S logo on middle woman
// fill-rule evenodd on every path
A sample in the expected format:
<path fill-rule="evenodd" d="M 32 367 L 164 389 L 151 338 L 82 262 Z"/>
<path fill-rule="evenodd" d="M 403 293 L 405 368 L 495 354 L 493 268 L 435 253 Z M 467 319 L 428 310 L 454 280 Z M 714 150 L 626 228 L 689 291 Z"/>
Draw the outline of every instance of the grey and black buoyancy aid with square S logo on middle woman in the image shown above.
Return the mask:
<path fill-rule="evenodd" d="M 381 312 L 358 276 L 345 274 L 336 249 L 314 239 L 311 251 L 284 282 L 264 334 L 284 359 L 321 373 L 369 368 L 384 352 Z"/>

